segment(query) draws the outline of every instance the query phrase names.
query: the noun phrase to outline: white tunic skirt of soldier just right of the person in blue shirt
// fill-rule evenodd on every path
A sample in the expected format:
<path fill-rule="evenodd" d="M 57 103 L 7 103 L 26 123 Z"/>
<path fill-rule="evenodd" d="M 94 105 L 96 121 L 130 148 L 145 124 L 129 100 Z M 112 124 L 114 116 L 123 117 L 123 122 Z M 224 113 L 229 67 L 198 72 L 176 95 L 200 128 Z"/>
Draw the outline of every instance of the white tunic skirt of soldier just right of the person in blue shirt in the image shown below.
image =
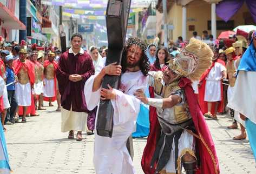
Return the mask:
<path fill-rule="evenodd" d="M 31 105 L 30 83 L 27 83 L 27 84 L 16 83 L 15 97 L 17 99 L 18 106 L 30 106 Z"/>

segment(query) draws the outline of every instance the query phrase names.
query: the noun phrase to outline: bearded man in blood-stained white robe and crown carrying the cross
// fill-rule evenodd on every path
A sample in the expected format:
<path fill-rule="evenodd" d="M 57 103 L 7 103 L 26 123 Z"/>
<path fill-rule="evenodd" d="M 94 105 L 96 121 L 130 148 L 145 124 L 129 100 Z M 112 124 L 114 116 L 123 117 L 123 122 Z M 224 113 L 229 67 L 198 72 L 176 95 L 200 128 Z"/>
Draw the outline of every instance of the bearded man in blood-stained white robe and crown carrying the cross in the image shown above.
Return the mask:
<path fill-rule="evenodd" d="M 99 104 L 100 98 L 110 99 L 114 108 L 112 137 L 95 134 L 94 165 L 97 174 L 135 173 L 126 142 L 134 131 L 140 111 L 140 101 L 134 96 L 134 92 L 139 89 L 145 90 L 147 86 L 149 61 L 145 51 L 145 43 L 137 38 L 129 38 L 123 52 L 122 66 L 115 63 L 105 66 L 100 73 L 91 76 L 84 86 L 89 110 L 93 110 Z M 118 90 L 109 85 L 109 89 L 101 87 L 105 75 L 120 76 L 121 73 Z"/>

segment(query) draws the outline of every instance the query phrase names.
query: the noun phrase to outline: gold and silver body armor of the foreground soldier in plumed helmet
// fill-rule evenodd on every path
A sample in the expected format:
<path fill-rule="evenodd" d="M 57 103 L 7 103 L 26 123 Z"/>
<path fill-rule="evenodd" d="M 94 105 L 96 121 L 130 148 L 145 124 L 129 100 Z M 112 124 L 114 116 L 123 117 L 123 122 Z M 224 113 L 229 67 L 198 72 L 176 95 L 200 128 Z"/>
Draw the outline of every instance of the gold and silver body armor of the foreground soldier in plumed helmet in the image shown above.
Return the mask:
<path fill-rule="evenodd" d="M 185 92 L 179 87 L 178 81 L 163 85 L 163 72 L 156 72 L 154 76 L 155 98 L 168 98 L 170 95 L 181 97 L 181 103 L 176 104 L 173 108 L 156 108 L 159 123 L 164 132 L 168 132 L 169 124 L 180 124 L 191 119 L 191 114 L 186 103 Z"/>

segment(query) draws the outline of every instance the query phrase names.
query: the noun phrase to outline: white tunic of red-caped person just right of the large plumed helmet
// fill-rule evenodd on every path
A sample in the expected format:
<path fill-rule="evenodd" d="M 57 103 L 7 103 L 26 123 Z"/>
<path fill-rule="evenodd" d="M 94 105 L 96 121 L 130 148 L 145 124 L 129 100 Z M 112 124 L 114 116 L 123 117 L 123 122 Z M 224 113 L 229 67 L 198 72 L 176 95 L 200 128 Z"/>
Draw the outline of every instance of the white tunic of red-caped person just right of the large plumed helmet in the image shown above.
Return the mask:
<path fill-rule="evenodd" d="M 221 63 L 216 62 L 208 76 L 206 77 L 205 85 L 205 101 L 206 102 L 218 102 L 221 101 L 221 78 L 222 71 L 225 71 L 226 67 Z"/>

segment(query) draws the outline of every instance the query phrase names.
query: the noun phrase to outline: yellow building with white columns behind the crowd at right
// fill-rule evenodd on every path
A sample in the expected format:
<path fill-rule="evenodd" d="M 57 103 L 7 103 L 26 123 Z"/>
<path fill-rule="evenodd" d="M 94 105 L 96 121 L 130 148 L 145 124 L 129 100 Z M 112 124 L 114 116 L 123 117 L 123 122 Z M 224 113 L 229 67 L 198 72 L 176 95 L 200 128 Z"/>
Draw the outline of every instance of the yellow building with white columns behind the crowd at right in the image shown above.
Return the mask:
<path fill-rule="evenodd" d="M 215 12 L 216 4 L 220 1 L 222 0 L 167 0 L 168 39 L 176 41 L 182 36 L 188 40 L 193 36 L 193 31 L 202 36 L 204 30 L 216 38 L 221 31 L 233 30 L 238 25 L 255 25 L 245 3 L 227 23 L 223 21 Z M 162 0 L 157 2 L 156 8 L 156 35 L 163 43 L 163 30 L 159 27 L 159 24 L 163 24 Z"/>

